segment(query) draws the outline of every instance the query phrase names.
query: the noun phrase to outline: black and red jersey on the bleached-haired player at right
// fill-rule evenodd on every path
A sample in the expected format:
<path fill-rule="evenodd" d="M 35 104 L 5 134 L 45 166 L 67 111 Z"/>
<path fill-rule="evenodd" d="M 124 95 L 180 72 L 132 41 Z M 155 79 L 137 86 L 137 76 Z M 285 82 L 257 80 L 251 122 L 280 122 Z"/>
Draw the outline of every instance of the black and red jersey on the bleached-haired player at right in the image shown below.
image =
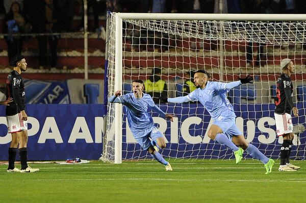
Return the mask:
<path fill-rule="evenodd" d="M 291 109 L 294 107 L 293 102 L 293 84 L 288 74 L 281 74 L 276 82 L 276 99 L 275 113 L 291 114 Z"/>

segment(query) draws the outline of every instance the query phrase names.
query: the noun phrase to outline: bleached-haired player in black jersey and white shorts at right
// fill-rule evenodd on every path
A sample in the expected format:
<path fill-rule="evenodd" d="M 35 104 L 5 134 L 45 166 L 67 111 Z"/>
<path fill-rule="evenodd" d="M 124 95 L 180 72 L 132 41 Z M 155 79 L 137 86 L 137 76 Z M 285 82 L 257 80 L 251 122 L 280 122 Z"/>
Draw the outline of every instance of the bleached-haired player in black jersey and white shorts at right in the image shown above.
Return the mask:
<path fill-rule="evenodd" d="M 277 136 L 283 136 L 284 142 L 281 148 L 281 165 L 278 171 L 296 171 L 299 166 L 290 163 L 289 157 L 293 140 L 293 125 L 291 120 L 291 110 L 294 116 L 298 117 L 298 110 L 292 102 L 293 84 L 290 79 L 291 73 L 294 73 L 294 65 L 290 59 L 281 61 L 283 74 L 279 76 L 276 83 L 275 99 L 275 123 Z"/>

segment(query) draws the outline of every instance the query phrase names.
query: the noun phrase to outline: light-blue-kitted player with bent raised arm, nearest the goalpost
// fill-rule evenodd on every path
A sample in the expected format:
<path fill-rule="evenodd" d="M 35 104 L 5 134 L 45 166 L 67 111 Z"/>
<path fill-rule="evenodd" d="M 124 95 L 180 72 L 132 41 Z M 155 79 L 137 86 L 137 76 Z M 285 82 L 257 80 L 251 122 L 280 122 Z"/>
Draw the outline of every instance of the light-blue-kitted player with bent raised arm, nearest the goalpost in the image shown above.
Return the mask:
<path fill-rule="evenodd" d="M 125 105 L 127 112 L 127 121 L 131 132 L 140 144 L 140 146 L 147 150 L 151 156 L 163 164 L 166 170 L 172 170 L 169 162 L 159 153 L 158 145 L 160 148 L 166 147 L 166 142 L 160 131 L 154 125 L 152 117 L 148 114 L 148 106 L 152 108 L 159 115 L 170 119 L 173 122 L 174 115 L 164 113 L 158 106 L 155 105 L 149 94 L 143 93 L 143 81 L 135 80 L 132 82 L 133 92 L 121 96 L 121 90 L 116 91 L 115 95 L 109 98 L 110 103 L 120 103 Z M 152 139 L 151 140 L 149 139 Z"/>

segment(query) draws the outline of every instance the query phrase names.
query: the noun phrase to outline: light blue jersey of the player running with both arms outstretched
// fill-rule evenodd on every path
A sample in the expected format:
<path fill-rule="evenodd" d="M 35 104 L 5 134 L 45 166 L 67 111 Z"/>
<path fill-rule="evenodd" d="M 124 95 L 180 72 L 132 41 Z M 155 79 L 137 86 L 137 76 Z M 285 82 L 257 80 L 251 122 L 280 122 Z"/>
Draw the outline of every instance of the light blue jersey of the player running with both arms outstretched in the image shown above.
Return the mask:
<path fill-rule="evenodd" d="M 236 117 L 233 106 L 226 98 L 226 83 L 207 82 L 205 88 L 197 88 L 187 95 L 188 99 L 199 101 L 209 112 L 214 121 L 221 120 L 224 117 Z"/>

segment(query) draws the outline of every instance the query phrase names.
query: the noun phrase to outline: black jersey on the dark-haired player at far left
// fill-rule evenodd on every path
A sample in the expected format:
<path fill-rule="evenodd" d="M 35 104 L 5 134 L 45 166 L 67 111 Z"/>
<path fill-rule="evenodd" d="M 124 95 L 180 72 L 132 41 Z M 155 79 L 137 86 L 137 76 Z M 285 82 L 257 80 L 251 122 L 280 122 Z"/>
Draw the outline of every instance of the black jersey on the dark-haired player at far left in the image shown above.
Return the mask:
<path fill-rule="evenodd" d="M 12 97 L 13 102 L 6 107 L 6 115 L 12 116 L 25 109 L 24 105 L 24 82 L 21 75 L 16 70 L 13 70 L 7 78 L 6 97 Z"/>

